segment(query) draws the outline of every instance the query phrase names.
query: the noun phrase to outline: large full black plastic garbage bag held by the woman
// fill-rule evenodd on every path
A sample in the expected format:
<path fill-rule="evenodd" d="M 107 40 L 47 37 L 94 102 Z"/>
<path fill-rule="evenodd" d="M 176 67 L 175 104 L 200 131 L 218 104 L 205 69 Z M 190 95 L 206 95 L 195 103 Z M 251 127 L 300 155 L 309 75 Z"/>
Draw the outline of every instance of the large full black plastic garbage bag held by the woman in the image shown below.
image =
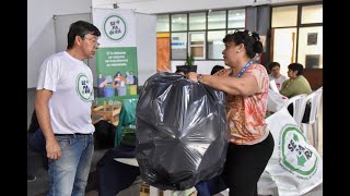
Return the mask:
<path fill-rule="evenodd" d="M 178 74 L 156 73 L 140 93 L 136 136 L 145 183 L 183 191 L 217 176 L 229 144 L 224 95 Z"/>

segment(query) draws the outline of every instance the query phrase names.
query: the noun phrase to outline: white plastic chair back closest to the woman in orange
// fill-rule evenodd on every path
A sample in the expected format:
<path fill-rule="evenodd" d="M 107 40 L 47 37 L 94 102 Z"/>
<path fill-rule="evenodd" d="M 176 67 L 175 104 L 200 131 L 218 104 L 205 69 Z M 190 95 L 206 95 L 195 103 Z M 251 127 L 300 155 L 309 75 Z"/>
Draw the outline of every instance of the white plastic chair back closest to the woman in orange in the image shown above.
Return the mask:
<path fill-rule="evenodd" d="M 306 98 L 306 94 L 301 94 L 301 95 L 296 95 L 294 97 L 291 97 L 288 99 L 287 103 L 285 103 L 285 108 L 288 108 L 291 103 L 293 103 L 293 114 L 292 117 L 294 118 L 296 124 L 299 127 L 301 127 L 302 124 L 302 119 L 304 115 L 304 111 L 305 111 L 305 98 Z"/>

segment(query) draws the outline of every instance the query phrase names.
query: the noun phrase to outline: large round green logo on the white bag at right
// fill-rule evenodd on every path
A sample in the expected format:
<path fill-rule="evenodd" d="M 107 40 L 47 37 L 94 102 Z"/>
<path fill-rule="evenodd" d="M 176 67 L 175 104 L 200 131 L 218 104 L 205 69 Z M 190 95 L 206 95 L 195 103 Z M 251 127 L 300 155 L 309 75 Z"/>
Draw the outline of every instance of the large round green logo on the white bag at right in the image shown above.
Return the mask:
<path fill-rule="evenodd" d="M 280 164 L 300 179 L 310 179 L 317 171 L 318 158 L 308 149 L 304 134 L 294 125 L 287 125 L 280 135 Z"/>

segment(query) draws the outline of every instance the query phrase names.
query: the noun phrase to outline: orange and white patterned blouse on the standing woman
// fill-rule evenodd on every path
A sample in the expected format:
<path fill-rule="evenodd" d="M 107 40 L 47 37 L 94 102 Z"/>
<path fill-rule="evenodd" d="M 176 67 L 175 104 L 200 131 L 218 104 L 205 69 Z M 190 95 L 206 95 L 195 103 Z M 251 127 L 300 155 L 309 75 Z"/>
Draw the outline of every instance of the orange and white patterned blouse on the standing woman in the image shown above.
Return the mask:
<path fill-rule="evenodd" d="M 221 70 L 214 75 L 230 76 L 231 69 Z M 264 140 L 269 131 L 265 122 L 269 76 L 261 64 L 252 64 L 243 74 L 253 75 L 259 86 L 254 96 L 226 94 L 226 118 L 230 123 L 230 142 L 237 145 L 254 145 Z"/>

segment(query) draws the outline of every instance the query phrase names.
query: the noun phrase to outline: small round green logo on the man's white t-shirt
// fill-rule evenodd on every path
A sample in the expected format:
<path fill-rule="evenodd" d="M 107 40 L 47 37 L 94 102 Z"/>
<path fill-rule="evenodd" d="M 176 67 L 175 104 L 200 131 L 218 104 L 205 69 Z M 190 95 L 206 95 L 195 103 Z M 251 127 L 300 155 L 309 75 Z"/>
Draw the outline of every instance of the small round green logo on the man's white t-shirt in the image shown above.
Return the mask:
<path fill-rule="evenodd" d="M 79 74 L 77 78 L 77 93 L 84 101 L 93 100 L 94 89 L 85 74 Z"/>

